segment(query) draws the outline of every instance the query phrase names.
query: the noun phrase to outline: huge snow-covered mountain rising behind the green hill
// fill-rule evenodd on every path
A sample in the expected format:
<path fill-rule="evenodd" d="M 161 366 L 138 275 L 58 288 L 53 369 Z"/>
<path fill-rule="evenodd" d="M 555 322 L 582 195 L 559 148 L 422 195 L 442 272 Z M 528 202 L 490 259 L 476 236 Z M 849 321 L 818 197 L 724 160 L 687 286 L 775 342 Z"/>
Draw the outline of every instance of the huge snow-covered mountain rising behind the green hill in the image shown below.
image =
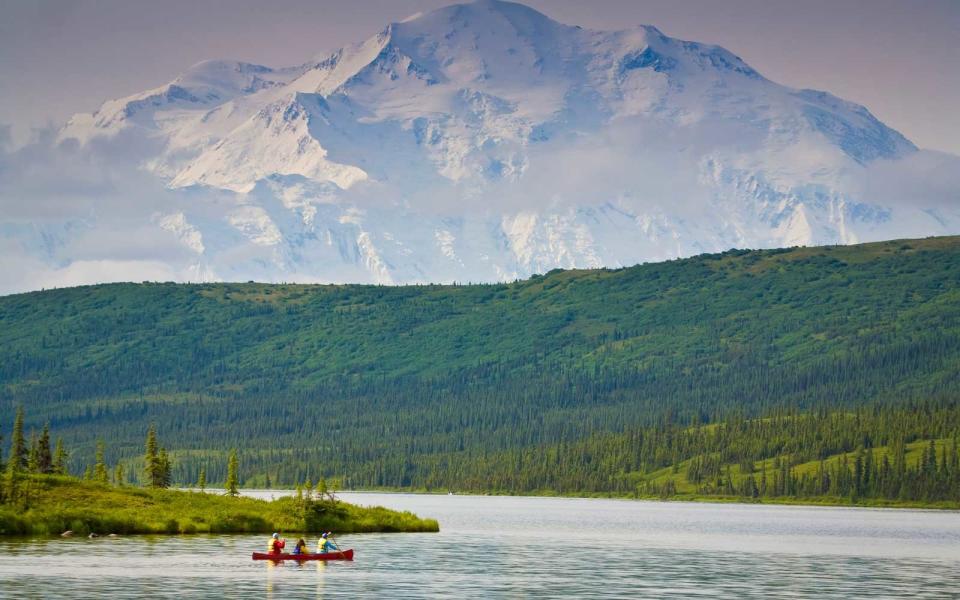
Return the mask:
<path fill-rule="evenodd" d="M 910 183 L 955 158 L 866 108 L 655 27 L 590 31 L 498 0 L 297 67 L 203 62 L 57 140 L 138 140 L 167 190 L 144 227 L 183 250 L 181 279 L 510 280 L 960 232 L 960 190 Z"/>

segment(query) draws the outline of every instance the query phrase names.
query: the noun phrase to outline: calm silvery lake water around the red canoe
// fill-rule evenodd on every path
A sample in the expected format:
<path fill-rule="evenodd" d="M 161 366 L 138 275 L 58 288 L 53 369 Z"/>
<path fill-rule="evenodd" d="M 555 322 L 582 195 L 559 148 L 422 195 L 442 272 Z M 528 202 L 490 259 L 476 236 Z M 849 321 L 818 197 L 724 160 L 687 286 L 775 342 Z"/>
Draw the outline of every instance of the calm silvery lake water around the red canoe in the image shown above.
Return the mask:
<path fill-rule="evenodd" d="M 343 498 L 442 531 L 340 536 L 354 562 L 304 566 L 250 560 L 262 535 L 4 540 L 0 596 L 960 598 L 957 512 Z"/>

